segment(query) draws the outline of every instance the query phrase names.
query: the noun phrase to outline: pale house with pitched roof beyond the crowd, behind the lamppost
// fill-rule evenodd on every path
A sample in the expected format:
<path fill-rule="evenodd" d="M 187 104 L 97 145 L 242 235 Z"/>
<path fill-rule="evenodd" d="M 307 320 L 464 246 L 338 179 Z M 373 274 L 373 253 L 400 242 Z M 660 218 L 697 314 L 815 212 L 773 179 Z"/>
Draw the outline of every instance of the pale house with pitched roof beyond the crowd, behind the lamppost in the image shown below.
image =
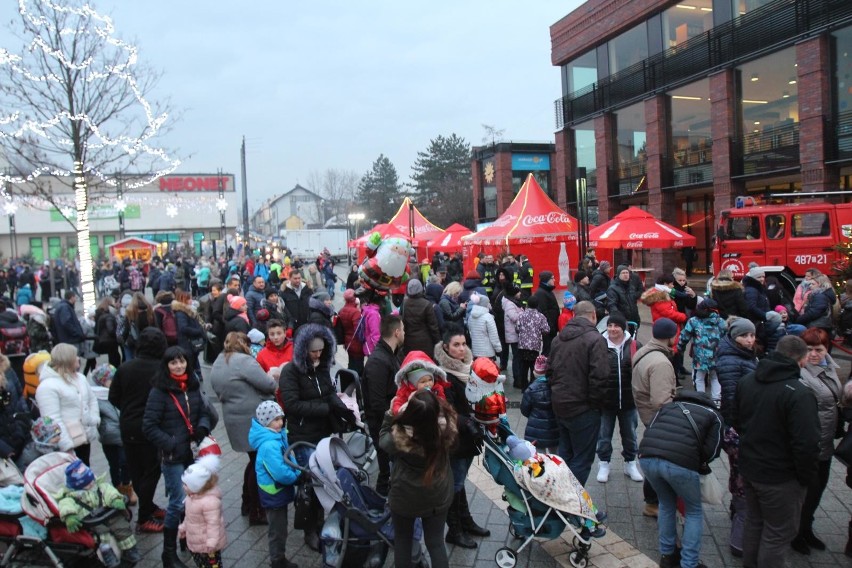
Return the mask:
<path fill-rule="evenodd" d="M 323 222 L 322 197 L 296 184 L 264 202 L 251 217 L 251 228 L 268 237 L 280 237 L 282 231 L 322 229 Z"/>

